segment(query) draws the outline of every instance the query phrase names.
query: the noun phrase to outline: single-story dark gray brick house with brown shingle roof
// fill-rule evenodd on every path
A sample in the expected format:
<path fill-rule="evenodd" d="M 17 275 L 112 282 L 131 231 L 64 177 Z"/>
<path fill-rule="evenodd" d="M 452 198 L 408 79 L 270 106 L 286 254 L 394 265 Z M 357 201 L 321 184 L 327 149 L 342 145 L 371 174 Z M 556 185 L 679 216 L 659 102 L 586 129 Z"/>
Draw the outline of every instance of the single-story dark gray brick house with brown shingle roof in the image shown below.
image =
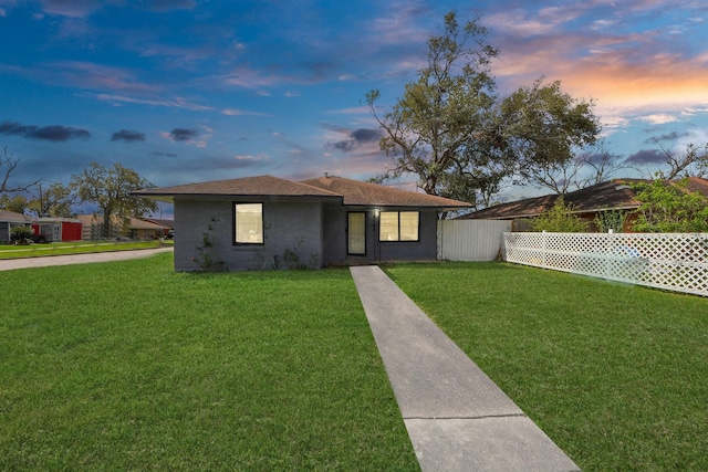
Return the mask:
<path fill-rule="evenodd" d="M 175 270 L 320 268 L 437 258 L 438 211 L 470 204 L 341 177 L 248 177 L 135 195 L 174 202 Z"/>

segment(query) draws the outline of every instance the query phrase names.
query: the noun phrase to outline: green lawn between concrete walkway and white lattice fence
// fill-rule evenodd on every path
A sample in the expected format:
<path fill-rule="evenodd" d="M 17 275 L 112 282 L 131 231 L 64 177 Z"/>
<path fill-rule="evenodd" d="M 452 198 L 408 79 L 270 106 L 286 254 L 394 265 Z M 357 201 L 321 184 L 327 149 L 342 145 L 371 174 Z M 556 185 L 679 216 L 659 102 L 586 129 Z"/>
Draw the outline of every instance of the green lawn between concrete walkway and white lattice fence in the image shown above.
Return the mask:
<path fill-rule="evenodd" d="M 581 469 L 708 470 L 708 300 L 502 263 L 387 273 Z"/>

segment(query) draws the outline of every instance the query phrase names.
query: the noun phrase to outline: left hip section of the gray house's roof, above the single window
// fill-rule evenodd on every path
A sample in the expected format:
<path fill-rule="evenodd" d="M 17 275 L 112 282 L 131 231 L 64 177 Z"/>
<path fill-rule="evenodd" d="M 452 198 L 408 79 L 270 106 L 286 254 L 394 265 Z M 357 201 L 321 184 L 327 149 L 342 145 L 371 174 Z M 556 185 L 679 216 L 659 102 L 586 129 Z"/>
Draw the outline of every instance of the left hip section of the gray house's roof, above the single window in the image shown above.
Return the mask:
<path fill-rule="evenodd" d="M 244 177 L 162 187 L 136 191 L 142 197 L 229 196 L 229 197 L 330 197 L 340 195 L 273 176 Z"/>

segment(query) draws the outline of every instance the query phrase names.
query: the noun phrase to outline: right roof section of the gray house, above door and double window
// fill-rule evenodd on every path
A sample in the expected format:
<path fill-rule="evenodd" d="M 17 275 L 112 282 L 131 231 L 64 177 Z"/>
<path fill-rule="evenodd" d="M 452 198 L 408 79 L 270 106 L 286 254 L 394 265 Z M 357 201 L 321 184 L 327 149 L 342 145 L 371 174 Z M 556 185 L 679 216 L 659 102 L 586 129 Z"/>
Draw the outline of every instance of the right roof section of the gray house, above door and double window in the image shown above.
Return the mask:
<path fill-rule="evenodd" d="M 301 183 L 317 187 L 344 197 L 344 204 L 365 204 L 382 207 L 429 207 L 429 208 L 469 208 L 469 203 L 437 197 L 427 193 L 416 193 L 361 180 L 343 177 L 320 177 L 301 180 Z"/>

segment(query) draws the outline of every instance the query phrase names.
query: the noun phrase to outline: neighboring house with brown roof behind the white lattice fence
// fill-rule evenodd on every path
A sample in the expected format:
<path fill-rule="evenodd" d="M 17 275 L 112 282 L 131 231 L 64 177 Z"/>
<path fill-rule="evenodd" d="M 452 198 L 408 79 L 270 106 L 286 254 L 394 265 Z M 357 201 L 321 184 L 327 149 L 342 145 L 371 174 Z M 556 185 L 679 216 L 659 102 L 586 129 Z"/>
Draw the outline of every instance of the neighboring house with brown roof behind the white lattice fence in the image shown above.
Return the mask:
<path fill-rule="evenodd" d="M 645 179 L 613 179 L 606 182 L 585 187 L 584 189 L 565 193 L 563 200 L 573 206 L 573 213 L 591 223 L 597 213 L 608 210 L 626 210 L 634 212 L 639 208 L 641 202 L 635 200 L 635 192 L 629 187 L 632 183 L 646 182 Z M 690 177 L 688 190 L 699 191 L 708 196 L 708 180 L 699 177 Z M 459 219 L 485 219 L 485 220 L 511 220 L 512 231 L 528 231 L 529 220 L 541 213 L 549 211 L 555 204 L 560 195 L 546 195 L 509 203 L 496 204 L 483 210 L 468 213 Z M 634 218 L 629 217 L 625 221 L 624 231 L 631 231 Z"/>

